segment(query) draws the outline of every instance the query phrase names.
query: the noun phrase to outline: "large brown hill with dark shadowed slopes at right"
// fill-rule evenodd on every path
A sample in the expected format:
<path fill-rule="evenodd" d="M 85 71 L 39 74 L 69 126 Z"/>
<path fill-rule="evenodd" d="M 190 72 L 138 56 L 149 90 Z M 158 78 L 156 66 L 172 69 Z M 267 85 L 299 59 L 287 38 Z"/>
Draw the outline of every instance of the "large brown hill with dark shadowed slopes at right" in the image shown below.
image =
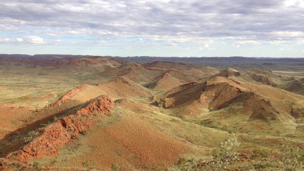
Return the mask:
<path fill-rule="evenodd" d="M 304 102 L 303 97 L 270 86 L 244 82 L 235 76 L 213 76 L 202 83 L 184 84 L 154 99 L 155 104 L 163 106 L 170 115 L 252 133 L 257 129 L 237 125 L 250 124 L 250 127 L 255 127 L 256 122 L 260 128 L 264 127 L 259 132 L 268 134 L 275 134 L 276 131 L 283 134 L 294 132 L 297 128 L 295 119 L 302 113 L 294 115 L 292 111 L 302 111 Z M 228 123 L 230 120 L 234 121 L 233 124 Z M 264 130 L 266 127 L 271 127 L 272 131 Z"/>

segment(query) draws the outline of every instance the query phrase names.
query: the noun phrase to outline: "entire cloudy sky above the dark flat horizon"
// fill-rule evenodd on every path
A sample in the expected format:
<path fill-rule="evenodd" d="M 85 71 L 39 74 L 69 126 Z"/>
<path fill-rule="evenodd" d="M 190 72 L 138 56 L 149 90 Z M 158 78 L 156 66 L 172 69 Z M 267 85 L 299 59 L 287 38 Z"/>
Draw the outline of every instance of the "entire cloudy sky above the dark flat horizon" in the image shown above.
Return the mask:
<path fill-rule="evenodd" d="M 304 57 L 304 0 L 1 0 L 0 53 Z"/>

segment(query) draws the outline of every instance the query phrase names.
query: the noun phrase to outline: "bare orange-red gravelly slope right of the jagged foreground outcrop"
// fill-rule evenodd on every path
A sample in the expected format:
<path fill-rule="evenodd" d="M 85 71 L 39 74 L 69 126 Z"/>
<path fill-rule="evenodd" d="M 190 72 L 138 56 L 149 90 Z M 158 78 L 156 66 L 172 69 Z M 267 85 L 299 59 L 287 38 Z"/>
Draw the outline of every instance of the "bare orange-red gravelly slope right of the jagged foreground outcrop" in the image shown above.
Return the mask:
<path fill-rule="evenodd" d="M 87 137 L 87 144 L 92 148 L 80 158 L 103 169 L 111 168 L 113 163 L 155 169 L 177 164 L 179 156 L 188 149 L 176 138 L 160 132 L 148 118 L 122 117 L 92 131 Z"/>

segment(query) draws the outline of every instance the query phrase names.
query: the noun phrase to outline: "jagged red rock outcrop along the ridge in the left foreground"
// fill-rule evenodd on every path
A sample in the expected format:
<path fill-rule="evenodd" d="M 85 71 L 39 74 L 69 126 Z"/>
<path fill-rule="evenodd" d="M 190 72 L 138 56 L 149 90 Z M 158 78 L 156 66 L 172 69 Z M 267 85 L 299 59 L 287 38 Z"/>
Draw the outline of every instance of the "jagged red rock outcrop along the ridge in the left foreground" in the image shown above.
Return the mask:
<path fill-rule="evenodd" d="M 114 101 L 107 95 L 95 98 L 76 113 L 38 130 L 38 136 L 33 141 L 7 158 L 13 157 L 20 161 L 31 161 L 57 155 L 60 148 L 75 135 L 88 130 L 98 122 L 92 114 L 109 115 L 114 104 Z"/>

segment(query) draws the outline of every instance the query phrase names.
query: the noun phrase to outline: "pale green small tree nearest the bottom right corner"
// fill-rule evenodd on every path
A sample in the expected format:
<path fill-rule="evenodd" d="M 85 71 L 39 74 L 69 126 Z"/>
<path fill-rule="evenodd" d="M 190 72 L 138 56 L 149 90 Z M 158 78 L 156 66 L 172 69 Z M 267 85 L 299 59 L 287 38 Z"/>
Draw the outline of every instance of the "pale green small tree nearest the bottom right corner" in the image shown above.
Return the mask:
<path fill-rule="evenodd" d="M 283 145 L 280 160 L 283 163 L 284 171 L 296 171 L 297 168 L 302 167 L 299 151 L 299 147 L 295 148 Z"/>

